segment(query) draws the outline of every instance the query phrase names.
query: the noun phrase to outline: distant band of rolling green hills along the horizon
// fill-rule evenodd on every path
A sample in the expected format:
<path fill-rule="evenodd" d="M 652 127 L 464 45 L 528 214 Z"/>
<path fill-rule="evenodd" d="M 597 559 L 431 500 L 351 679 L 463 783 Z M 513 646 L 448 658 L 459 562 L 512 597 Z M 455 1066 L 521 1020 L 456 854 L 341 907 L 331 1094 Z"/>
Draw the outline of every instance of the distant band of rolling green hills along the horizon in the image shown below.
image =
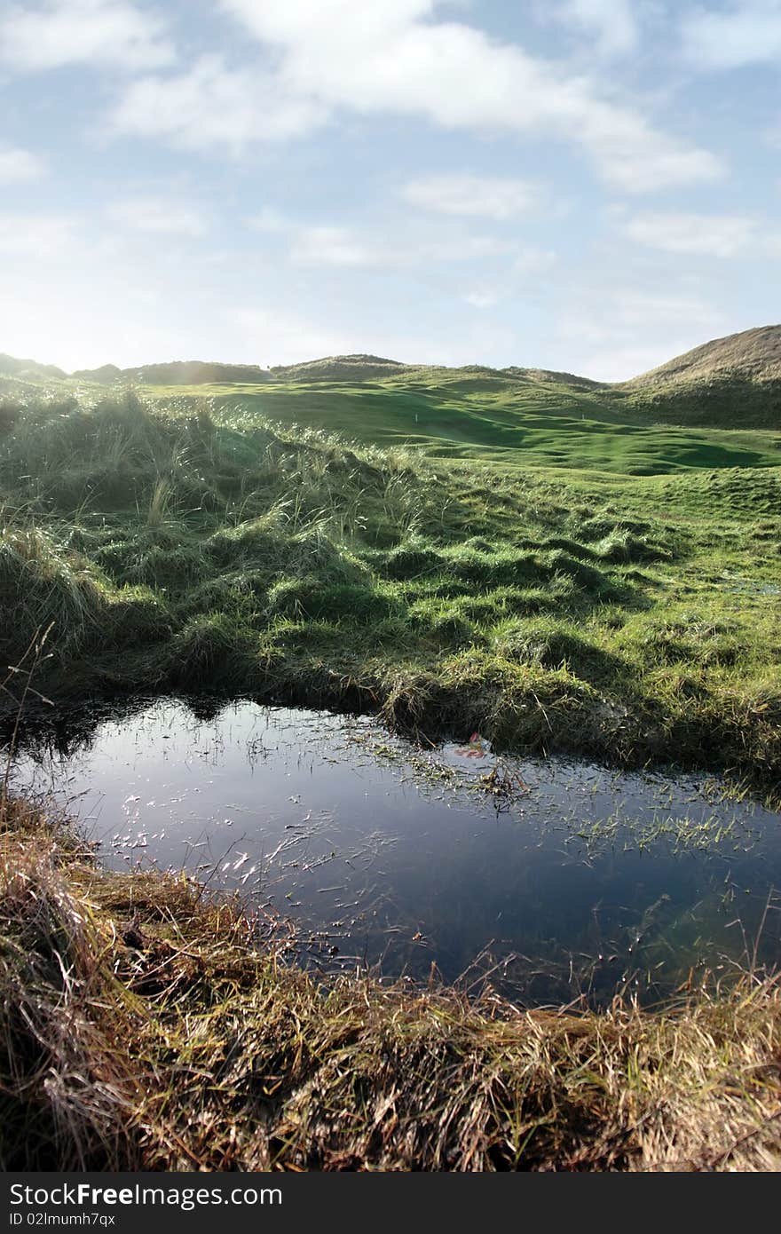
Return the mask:
<path fill-rule="evenodd" d="M 385 357 L 333 355 L 273 369 L 171 362 L 104 365 L 67 376 L 0 355 L 6 392 L 41 384 L 100 397 L 133 385 L 181 407 L 206 397 L 243 424 L 259 418 L 338 432 L 439 458 L 624 475 L 777 466 L 781 326 L 716 339 L 630 381 L 484 365 L 444 368 Z"/>

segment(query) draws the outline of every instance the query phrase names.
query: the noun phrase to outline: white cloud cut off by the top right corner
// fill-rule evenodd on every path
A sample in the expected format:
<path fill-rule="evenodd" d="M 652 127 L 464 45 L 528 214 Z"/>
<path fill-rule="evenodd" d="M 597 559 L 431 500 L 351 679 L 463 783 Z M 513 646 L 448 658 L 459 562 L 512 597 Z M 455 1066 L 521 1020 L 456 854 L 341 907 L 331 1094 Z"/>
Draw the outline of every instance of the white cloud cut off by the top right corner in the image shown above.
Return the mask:
<path fill-rule="evenodd" d="M 740 0 L 727 9 L 697 5 L 681 20 L 684 56 L 697 69 L 776 64 L 781 57 L 781 0 Z"/>

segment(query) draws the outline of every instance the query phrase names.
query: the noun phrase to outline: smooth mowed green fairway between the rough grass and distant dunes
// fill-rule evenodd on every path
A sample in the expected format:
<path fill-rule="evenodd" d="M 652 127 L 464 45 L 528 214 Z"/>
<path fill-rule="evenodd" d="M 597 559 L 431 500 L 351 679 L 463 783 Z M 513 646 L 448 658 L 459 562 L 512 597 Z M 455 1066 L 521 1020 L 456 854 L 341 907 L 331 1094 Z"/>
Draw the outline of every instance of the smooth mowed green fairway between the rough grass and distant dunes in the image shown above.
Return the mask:
<path fill-rule="evenodd" d="M 381 447 L 413 445 L 437 458 L 658 475 L 691 468 L 777 466 L 779 431 L 686 428 L 658 422 L 645 391 L 582 390 L 538 379 L 436 370 L 360 383 L 148 387 L 151 397 L 213 399 L 221 416 L 263 416 L 285 427 L 326 428 Z M 686 423 L 686 421 L 682 421 Z M 781 421 L 777 421 L 781 426 Z"/>

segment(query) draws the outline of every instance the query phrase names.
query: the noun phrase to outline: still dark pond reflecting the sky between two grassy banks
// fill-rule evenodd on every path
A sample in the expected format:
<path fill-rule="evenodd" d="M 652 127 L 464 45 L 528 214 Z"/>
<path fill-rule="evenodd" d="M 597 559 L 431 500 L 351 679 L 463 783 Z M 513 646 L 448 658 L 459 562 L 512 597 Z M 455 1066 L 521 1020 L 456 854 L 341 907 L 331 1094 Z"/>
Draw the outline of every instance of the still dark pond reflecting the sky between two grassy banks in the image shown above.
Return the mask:
<path fill-rule="evenodd" d="M 702 779 L 165 700 L 32 728 L 15 787 L 67 806 L 110 866 L 238 890 L 328 971 L 598 1004 L 781 956 L 781 816 Z"/>

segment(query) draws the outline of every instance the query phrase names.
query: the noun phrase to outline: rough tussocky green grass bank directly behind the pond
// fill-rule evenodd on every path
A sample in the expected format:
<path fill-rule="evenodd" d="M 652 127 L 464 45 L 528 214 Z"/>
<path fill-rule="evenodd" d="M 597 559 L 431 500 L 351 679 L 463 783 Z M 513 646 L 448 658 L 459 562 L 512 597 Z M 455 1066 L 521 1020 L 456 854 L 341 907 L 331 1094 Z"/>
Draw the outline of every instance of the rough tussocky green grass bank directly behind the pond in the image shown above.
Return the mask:
<path fill-rule="evenodd" d="M 0 656 L 429 733 L 781 768 L 777 468 L 426 460 L 189 400 L 0 411 Z"/>

